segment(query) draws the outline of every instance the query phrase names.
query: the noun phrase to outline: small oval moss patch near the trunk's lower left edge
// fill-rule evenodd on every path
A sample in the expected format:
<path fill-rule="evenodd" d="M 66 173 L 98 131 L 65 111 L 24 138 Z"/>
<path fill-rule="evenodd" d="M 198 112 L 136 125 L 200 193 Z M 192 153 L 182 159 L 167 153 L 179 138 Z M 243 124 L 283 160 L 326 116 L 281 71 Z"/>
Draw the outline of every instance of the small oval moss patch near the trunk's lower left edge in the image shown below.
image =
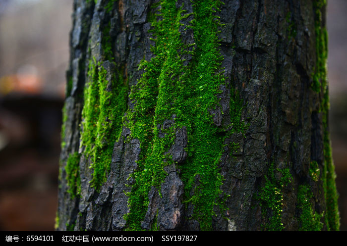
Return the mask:
<path fill-rule="evenodd" d="M 79 174 L 79 159 L 78 152 L 70 154 L 66 161 L 65 171 L 68 185 L 67 192 L 71 197 L 75 197 L 81 193 L 81 178 Z"/>

